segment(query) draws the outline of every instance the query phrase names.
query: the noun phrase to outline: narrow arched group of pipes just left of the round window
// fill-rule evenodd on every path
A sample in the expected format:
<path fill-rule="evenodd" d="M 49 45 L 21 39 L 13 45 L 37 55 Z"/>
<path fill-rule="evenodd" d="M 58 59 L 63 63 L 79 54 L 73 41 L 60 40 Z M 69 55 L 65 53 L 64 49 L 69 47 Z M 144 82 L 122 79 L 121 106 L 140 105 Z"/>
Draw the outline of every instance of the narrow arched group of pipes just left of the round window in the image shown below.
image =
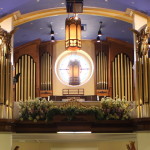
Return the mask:
<path fill-rule="evenodd" d="M 41 56 L 41 90 L 52 90 L 52 57 L 48 52 Z"/>

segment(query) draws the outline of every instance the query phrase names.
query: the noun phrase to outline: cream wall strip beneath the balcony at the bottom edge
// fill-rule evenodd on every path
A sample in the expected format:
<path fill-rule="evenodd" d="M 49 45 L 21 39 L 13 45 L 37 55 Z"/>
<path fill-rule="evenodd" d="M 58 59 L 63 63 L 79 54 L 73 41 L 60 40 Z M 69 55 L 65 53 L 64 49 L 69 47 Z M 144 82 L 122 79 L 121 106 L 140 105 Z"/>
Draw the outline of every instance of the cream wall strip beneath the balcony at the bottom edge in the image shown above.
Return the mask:
<path fill-rule="evenodd" d="M 63 139 L 62 139 L 63 140 Z M 113 139 L 112 139 L 113 140 Z M 15 146 L 20 146 L 20 150 L 127 150 L 125 141 L 100 141 L 100 142 L 14 142 Z M 147 150 L 147 149 L 143 149 Z"/>

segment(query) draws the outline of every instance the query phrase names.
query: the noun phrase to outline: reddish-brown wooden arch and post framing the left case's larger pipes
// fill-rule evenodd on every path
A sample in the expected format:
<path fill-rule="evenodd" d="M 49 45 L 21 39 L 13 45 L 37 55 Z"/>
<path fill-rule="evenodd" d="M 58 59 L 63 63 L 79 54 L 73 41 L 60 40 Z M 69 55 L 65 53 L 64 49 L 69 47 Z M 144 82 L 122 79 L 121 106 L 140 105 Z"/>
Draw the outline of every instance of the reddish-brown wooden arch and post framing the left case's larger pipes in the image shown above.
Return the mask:
<path fill-rule="evenodd" d="M 35 82 L 35 96 L 39 97 L 40 95 L 40 62 L 39 62 L 39 46 L 40 46 L 41 40 L 34 40 L 32 42 L 29 42 L 27 44 L 21 45 L 19 47 L 16 47 L 14 50 L 14 62 L 16 63 L 20 56 L 22 55 L 30 55 L 34 62 L 36 63 L 35 69 L 36 69 L 36 82 Z"/>

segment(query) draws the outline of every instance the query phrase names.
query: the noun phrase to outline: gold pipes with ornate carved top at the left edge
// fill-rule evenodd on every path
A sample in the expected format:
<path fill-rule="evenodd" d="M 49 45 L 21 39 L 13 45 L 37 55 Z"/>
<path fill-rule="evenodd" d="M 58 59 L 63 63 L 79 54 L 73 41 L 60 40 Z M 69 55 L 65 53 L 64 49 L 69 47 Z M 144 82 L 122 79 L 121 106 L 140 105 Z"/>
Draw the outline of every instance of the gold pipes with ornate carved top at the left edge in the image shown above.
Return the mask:
<path fill-rule="evenodd" d="M 0 119 L 12 118 L 12 49 L 11 37 L 0 27 Z"/>

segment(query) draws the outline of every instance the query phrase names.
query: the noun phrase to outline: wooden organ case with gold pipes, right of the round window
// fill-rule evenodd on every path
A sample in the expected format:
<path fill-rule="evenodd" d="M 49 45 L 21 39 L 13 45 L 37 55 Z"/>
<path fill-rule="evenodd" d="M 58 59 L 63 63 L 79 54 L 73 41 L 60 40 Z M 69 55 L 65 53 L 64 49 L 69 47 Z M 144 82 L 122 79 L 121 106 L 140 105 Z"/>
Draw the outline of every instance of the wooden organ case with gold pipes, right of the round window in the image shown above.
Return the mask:
<path fill-rule="evenodd" d="M 95 49 L 96 95 L 133 100 L 133 45 L 107 38 Z"/>

